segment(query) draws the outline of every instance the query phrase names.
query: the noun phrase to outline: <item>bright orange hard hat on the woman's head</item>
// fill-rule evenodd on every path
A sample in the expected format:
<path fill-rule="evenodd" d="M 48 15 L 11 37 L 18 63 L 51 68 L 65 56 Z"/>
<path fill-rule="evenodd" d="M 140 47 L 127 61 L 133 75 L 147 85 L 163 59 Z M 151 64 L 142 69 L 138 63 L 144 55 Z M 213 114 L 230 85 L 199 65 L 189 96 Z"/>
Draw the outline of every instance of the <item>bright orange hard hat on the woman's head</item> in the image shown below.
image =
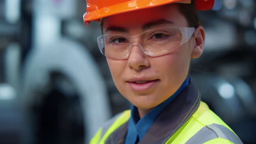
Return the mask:
<path fill-rule="evenodd" d="M 156 7 L 170 3 L 190 3 L 191 0 L 87 0 L 84 22 L 101 21 L 103 17 L 127 11 Z M 197 10 L 210 10 L 214 0 L 196 0 Z"/>

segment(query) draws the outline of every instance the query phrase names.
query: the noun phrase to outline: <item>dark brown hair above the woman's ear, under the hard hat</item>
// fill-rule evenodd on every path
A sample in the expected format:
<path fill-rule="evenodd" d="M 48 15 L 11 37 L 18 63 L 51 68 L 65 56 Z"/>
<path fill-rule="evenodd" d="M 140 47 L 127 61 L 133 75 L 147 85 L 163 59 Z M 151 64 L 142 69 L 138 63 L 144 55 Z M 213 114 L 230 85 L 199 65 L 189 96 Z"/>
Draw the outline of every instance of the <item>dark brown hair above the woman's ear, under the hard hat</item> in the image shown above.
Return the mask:
<path fill-rule="evenodd" d="M 197 27 L 201 25 L 197 17 L 196 0 L 191 0 L 190 4 L 179 4 L 179 12 L 185 16 L 189 27 Z"/>

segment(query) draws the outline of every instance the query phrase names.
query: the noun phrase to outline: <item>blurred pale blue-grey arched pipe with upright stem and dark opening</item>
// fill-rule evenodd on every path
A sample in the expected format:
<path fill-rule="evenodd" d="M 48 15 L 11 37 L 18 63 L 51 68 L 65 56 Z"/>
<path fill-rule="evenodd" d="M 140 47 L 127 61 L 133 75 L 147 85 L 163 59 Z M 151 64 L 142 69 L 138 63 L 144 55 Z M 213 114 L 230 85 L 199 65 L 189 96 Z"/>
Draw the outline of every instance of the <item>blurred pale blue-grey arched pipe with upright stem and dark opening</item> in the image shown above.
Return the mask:
<path fill-rule="evenodd" d="M 88 143 L 110 117 L 97 64 L 86 47 L 61 34 L 62 21 L 74 16 L 76 3 L 33 2 L 32 51 L 25 62 L 21 105 L 30 124 L 25 137 L 35 139 L 25 143 Z"/>

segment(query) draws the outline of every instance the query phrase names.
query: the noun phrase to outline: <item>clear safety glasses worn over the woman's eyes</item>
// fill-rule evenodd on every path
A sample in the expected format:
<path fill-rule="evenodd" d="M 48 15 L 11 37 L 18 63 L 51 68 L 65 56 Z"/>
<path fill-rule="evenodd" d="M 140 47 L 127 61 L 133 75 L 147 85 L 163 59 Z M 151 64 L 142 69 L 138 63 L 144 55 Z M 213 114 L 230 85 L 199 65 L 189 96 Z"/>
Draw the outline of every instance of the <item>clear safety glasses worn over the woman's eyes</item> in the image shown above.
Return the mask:
<path fill-rule="evenodd" d="M 101 53 L 111 59 L 126 59 L 132 46 L 139 46 L 150 57 L 177 50 L 195 31 L 194 27 L 160 27 L 138 35 L 105 34 L 97 38 Z"/>

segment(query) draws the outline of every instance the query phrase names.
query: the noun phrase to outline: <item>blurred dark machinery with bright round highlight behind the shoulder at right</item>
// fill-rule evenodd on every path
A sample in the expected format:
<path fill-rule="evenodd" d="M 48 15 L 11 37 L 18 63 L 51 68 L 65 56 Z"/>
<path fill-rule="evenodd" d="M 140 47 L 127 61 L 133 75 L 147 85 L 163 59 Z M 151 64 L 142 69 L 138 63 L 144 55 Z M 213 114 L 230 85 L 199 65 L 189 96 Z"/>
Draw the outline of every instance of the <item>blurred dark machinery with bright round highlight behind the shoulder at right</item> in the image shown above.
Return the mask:
<path fill-rule="evenodd" d="M 254 143 L 256 100 L 249 85 L 238 77 L 193 75 L 211 110 L 223 119 L 244 143 Z"/>

